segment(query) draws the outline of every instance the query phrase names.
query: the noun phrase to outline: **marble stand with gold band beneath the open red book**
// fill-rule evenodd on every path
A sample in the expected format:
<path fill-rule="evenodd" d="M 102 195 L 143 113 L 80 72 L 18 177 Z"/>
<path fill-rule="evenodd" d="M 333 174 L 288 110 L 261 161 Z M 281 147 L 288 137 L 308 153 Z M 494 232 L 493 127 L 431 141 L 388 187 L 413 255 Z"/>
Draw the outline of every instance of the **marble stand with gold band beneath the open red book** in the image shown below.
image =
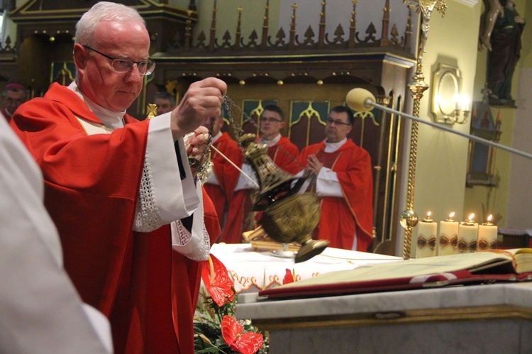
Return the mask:
<path fill-rule="evenodd" d="M 240 294 L 270 353 L 532 353 L 532 283 L 290 300 Z"/>

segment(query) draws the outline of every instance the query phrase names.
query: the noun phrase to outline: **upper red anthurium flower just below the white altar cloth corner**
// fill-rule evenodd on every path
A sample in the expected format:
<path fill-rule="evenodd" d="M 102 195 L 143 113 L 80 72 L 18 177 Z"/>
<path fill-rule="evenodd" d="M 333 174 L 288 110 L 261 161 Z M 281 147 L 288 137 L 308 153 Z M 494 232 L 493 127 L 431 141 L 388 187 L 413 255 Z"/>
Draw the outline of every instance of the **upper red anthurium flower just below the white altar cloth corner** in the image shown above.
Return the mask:
<path fill-rule="evenodd" d="M 203 262 L 201 280 L 218 306 L 233 301 L 235 297 L 233 280 L 229 276 L 226 266 L 214 255 L 210 255 L 209 260 Z"/>

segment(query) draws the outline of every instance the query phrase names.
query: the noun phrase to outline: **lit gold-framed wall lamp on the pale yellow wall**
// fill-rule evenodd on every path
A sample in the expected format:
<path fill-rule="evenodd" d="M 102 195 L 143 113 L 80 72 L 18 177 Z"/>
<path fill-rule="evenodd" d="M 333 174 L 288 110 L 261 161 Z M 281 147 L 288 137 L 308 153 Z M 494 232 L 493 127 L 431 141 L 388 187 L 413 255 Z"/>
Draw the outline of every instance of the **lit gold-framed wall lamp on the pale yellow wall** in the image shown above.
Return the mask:
<path fill-rule="evenodd" d="M 470 114 L 470 99 L 461 94 L 462 76 L 458 67 L 438 64 L 433 74 L 431 113 L 437 123 L 463 124 Z"/>

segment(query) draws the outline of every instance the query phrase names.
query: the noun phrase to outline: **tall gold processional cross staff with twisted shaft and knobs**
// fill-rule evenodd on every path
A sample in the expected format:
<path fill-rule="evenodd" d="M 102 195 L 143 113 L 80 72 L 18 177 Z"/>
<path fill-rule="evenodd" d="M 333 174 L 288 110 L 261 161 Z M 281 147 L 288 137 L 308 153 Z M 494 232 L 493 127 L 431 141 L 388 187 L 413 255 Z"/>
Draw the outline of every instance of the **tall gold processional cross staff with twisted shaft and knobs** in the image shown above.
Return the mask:
<path fill-rule="evenodd" d="M 414 74 L 413 81 L 409 84 L 409 89 L 414 98 L 414 109 L 412 115 L 419 118 L 419 105 L 423 92 L 428 89 L 428 84 L 425 82 L 423 76 L 423 53 L 425 52 L 426 40 L 428 38 L 428 21 L 431 19 L 433 9 L 445 16 L 445 9 L 447 5 L 445 0 L 403 0 L 403 4 L 417 3 L 417 11 L 421 13 L 421 33 L 419 36 L 419 48 L 416 60 L 416 74 Z M 408 172 L 408 186 L 406 190 L 406 210 L 401 213 L 400 223 L 405 228 L 404 243 L 403 243 L 403 258 L 410 259 L 412 228 L 418 223 L 418 216 L 414 211 L 414 185 L 416 183 L 416 157 L 418 145 L 418 131 L 419 123 L 412 121 L 411 136 L 410 136 L 410 153 L 409 153 L 409 172 Z"/>

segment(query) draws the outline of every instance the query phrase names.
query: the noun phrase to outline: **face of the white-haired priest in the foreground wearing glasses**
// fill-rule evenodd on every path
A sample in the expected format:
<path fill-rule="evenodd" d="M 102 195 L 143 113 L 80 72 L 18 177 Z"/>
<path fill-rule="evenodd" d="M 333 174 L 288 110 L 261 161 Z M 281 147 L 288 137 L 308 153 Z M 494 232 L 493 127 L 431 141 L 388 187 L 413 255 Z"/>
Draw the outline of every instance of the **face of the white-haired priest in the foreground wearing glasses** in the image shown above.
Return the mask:
<path fill-rule="evenodd" d="M 94 32 L 94 45 L 74 45 L 79 89 L 96 104 L 113 112 L 126 110 L 143 88 L 143 75 L 133 64 L 127 72 L 111 67 L 113 59 L 148 60 L 150 37 L 143 23 L 102 21 Z"/>

